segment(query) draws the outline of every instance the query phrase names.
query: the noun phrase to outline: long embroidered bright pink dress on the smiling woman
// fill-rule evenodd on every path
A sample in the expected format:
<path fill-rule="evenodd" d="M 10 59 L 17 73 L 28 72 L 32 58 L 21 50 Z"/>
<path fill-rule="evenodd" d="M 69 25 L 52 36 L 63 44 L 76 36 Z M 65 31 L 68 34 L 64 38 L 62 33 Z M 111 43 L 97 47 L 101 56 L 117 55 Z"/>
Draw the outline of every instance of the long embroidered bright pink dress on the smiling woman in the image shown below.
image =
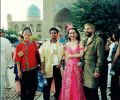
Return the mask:
<path fill-rule="evenodd" d="M 69 54 L 79 53 L 82 49 L 79 46 L 74 49 L 66 46 L 66 52 Z M 80 58 L 70 58 L 66 61 L 60 100 L 86 100 L 83 90 L 82 68 L 77 66 L 79 61 Z"/>

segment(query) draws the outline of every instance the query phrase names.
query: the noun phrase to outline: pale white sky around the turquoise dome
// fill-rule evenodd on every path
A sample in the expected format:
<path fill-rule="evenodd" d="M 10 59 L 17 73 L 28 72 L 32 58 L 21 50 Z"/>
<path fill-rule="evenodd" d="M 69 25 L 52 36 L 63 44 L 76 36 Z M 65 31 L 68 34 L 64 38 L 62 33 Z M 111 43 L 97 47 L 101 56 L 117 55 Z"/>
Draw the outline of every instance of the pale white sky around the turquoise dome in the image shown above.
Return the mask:
<path fill-rule="evenodd" d="M 1 0 L 1 28 L 7 29 L 7 15 L 11 14 L 13 21 L 25 21 L 27 10 L 35 4 L 43 16 L 43 0 Z"/>

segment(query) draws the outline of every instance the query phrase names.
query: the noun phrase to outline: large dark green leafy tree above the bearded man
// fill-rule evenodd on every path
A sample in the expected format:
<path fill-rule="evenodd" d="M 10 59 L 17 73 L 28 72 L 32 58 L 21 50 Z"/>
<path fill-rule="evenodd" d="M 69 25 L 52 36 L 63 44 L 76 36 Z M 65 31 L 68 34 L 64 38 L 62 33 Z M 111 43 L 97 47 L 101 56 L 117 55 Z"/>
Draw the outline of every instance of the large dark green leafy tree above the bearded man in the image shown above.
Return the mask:
<path fill-rule="evenodd" d="M 120 0 L 79 0 L 71 10 L 73 24 L 79 29 L 89 22 L 97 31 L 110 32 L 120 24 Z"/>

